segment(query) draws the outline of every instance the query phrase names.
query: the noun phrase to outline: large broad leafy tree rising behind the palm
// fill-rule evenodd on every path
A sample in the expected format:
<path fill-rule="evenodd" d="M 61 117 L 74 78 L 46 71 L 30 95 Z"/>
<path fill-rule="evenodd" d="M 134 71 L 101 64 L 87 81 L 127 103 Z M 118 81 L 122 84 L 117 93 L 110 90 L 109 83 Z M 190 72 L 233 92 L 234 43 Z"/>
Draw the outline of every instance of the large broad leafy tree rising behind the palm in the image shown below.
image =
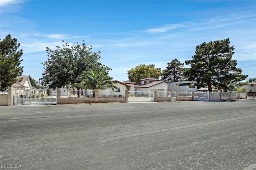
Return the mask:
<path fill-rule="evenodd" d="M 43 84 L 50 88 L 70 86 L 84 71 L 101 69 L 108 72 L 110 70 L 99 62 L 102 59 L 100 52 L 92 52 L 92 46 L 88 47 L 85 43 L 80 45 L 78 42 L 70 46 L 62 42 L 62 48 L 56 46 L 57 49 L 52 50 L 46 47 L 49 58 L 42 63 L 45 71 L 40 80 Z"/>

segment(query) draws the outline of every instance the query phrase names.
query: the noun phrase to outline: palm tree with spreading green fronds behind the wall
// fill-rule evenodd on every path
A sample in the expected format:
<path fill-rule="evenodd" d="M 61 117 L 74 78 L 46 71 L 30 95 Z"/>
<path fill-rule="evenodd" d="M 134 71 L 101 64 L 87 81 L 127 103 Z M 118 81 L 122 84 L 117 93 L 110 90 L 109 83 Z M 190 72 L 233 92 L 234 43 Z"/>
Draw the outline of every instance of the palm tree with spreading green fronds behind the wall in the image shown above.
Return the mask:
<path fill-rule="evenodd" d="M 96 72 L 92 69 L 88 72 L 82 72 L 82 74 L 76 79 L 80 82 L 80 86 L 86 89 L 98 89 L 106 90 L 107 88 L 118 88 L 112 81 L 112 77 L 108 75 L 107 72 L 102 70 L 97 70 Z"/>

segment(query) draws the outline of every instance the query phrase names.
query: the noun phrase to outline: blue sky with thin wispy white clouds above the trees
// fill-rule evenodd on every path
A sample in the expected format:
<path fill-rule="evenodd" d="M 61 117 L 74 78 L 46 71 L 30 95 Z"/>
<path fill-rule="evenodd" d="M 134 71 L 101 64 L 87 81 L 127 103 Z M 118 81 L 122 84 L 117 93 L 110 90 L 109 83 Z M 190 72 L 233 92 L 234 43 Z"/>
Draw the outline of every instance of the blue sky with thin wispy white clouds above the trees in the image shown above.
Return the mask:
<path fill-rule="evenodd" d="M 38 80 L 48 56 L 68 43 L 100 51 L 114 80 L 140 64 L 192 59 L 196 45 L 230 38 L 238 68 L 256 77 L 255 0 L 0 0 L 0 38 L 23 49 L 23 75 Z M 186 66 L 189 67 L 189 66 Z"/>

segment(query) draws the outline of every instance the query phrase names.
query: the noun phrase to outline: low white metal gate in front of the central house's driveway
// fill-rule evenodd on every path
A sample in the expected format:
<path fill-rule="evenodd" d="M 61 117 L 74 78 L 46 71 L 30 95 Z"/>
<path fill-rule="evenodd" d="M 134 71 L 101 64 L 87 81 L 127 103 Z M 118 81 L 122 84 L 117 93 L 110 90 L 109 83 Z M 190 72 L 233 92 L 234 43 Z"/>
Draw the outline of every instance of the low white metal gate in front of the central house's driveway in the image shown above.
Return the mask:
<path fill-rule="evenodd" d="M 152 102 L 154 92 L 128 91 L 128 102 Z"/>

